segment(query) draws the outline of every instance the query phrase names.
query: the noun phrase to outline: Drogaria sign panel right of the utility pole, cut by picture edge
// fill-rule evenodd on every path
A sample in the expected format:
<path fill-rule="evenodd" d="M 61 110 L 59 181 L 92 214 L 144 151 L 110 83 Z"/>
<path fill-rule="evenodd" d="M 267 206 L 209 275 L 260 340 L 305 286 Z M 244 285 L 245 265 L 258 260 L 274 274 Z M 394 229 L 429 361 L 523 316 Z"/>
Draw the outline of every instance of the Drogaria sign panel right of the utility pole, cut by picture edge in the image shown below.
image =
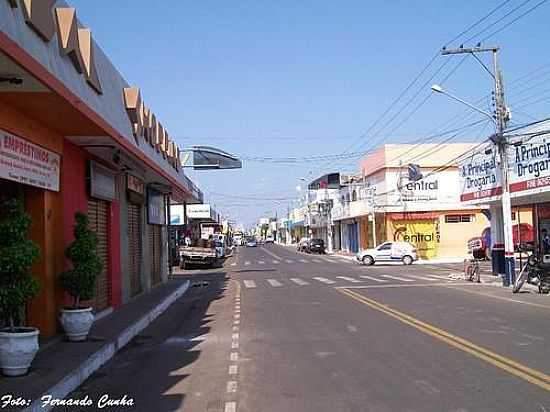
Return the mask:
<path fill-rule="evenodd" d="M 550 135 L 508 146 L 510 192 L 550 186 Z"/>

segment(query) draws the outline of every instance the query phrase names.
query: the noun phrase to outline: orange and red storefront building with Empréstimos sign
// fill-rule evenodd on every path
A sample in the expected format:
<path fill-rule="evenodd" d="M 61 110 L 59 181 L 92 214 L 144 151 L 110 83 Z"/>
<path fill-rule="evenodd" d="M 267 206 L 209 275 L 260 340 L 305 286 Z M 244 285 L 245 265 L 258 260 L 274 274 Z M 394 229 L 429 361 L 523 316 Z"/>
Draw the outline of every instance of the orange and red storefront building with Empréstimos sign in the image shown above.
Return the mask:
<path fill-rule="evenodd" d="M 180 150 L 62 1 L 0 2 L 0 200 L 24 202 L 40 248 L 27 323 L 57 332 L 74 214 L 88 214 L 104 271 L 95 312 L 167 278 L 167 207 L 196 202 Z"/>

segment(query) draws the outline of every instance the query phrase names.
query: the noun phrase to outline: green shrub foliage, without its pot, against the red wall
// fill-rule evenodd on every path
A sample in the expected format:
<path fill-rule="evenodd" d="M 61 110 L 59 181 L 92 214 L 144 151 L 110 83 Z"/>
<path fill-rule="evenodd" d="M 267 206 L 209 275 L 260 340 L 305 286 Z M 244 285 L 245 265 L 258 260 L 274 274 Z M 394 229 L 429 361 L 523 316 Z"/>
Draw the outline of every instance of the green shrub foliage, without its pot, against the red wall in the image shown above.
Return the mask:
<path fill-rule="evenodd" d="M 73 308 L 77 309 L 81 300 L 94 297 L 96 278 L 103 270 L 103 262 L 97 255 L 97 235 L 89 228 L 88 216 L 77 212 L 75 221 L 75 240 L 65 249 L 65 256 L 73 268 L 61 274 L 61 284 L 72 296 Z"/>

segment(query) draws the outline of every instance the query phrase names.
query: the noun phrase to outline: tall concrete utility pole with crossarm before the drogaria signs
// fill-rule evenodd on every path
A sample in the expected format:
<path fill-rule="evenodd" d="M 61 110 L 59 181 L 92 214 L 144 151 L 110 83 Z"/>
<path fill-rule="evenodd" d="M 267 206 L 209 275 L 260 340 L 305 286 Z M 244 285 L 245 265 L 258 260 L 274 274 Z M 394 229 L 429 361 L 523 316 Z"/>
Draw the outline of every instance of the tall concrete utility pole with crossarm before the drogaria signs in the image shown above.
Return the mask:
<path fill-rule="evenodd" d="M 506 138 L 504 137 L 504 130 L 506 129 L 508 120 L 510 119 L 510 112 L 506 107 L 504 100 L 504 86 L 502 82 L 502 72 L 500 71 L 498 64 L 498 51 L 499 47 L 480 47 L 478 44 L 474 48 L 460 47 L 458 49 L 443 49 L 442 55 L 452 54 L 471 54 L 483 68 L 493 77 L 495 82 L 495 125 L 496 133 L 491 137 L 491 141 L 494 143 L 497 149 L 497 153 L 500 160 L 500 170 L 502 176 L 502 222 L 504 226 L 504 286 L 510 286 L 515 282 L 515 258 L 514 258 L 514 238 L 512 230 L 512 206 L 510 200 L 510 187 L 508 183 L 508 156 L 506 154 Z M 476 53 L 491 52 L 493 55 L 493 72 L 483 64 L 481 60 L 476 56 Z M 494 236 L 494 234 L 493 234 Z"/>

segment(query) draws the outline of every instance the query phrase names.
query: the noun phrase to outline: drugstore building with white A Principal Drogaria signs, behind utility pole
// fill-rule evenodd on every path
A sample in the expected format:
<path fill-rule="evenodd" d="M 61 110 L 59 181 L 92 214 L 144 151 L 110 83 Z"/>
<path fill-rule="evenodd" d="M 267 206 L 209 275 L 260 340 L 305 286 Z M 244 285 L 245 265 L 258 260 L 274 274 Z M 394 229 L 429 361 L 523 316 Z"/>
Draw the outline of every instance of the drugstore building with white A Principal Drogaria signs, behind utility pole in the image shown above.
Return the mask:
<path fill-rule="evenodd" d="M 550 122 L 515 131 L 507 145 L 508 182 L 512 205 L 514 251 L 547 252 L 544 232 L 550 232 Z M 502 177 L 492 144 L 467 152 L 460 161 L 461 200 L 488 205 L 491 216 L 493 272 L 504 273 Z M 521 245 L 521 247 L 520 247 Z"/>

